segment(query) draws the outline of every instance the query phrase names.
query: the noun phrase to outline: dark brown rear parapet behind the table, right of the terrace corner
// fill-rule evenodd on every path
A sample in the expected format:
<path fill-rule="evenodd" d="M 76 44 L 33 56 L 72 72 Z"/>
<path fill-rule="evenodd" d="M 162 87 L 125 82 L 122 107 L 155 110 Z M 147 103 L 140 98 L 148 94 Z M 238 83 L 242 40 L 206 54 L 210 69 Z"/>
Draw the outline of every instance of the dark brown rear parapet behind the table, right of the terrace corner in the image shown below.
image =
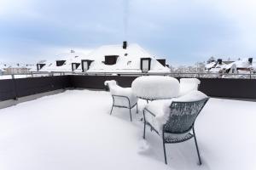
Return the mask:
<path fill-rule="evenodd" d="M 76 88 L 103 89 L 106 80 L 116 80 L 121 87 L 131 87 L 137 77 L 119 76 L 72 76 L 71 82 Z M 179 78 L 178 78 L 179 79 Z M 199 78 L 199 90 L 212 97 L 256 99 L 256 80 L 254 79 L 224 79 Z"/>

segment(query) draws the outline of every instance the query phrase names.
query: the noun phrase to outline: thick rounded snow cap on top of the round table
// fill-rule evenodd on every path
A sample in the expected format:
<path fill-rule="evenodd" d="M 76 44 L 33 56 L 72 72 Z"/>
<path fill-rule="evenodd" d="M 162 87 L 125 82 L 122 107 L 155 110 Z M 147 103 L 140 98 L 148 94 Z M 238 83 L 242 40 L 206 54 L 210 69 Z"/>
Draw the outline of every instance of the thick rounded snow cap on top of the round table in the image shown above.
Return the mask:
<path fill-rule="evenodd" d="M 132 92 L 144 99 L 171 99 L 179 93 L 179 82 L 173 77 L 137 77 L 131 84 Z"/>

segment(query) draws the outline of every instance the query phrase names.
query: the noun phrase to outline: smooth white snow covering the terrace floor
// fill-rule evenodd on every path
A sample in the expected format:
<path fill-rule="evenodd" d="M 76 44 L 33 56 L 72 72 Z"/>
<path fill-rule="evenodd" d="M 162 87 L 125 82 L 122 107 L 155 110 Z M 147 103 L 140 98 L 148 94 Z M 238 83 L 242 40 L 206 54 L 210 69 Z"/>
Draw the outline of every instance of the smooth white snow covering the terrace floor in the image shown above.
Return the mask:
<path fill-rule="evenodd" d="M 133 111 L 115 108 L 107 92 L 73 90 L 0 110 L 0 169 L 255 169 L 256 104 L 210 99 L 195 129 L 194 141 L 167 144 L 148 130 L 142 150 L 143 123 Z M 144 105 L 139 102 L 139 109 Z"/>

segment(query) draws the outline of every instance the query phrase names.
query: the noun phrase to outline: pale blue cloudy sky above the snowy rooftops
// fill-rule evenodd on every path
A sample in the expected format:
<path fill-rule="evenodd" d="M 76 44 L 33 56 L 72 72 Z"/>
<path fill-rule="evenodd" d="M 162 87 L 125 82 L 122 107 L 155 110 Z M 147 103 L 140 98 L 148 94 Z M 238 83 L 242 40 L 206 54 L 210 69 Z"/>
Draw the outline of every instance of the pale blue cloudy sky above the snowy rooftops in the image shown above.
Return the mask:
<path fill-rule="evenodd" d="M 256 56 L 253 0 L 0 0 L 0 62 L 136 42 L 171 65 Z"/>

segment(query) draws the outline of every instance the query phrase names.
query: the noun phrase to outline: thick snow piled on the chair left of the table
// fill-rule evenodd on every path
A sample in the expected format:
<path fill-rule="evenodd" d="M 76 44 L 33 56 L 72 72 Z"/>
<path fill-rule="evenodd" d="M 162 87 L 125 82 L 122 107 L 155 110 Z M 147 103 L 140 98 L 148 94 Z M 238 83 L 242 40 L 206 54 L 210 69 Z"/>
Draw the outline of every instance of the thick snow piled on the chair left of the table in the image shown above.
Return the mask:
<path fill-rule="evenodd" d="M 104 82 L 105 85 L 108 85 L 110 93 L 112 95 L 125 96 L 130 100 L 130 105 L 133 106 L 137 103 L 137 97 L 132 94 L 131 88 L 122 88 L 117 85 L 117 82 L 114 80 Z M 114 97 L 114 105 L 130 107 L 129 100 L 124 97 Z"/>

